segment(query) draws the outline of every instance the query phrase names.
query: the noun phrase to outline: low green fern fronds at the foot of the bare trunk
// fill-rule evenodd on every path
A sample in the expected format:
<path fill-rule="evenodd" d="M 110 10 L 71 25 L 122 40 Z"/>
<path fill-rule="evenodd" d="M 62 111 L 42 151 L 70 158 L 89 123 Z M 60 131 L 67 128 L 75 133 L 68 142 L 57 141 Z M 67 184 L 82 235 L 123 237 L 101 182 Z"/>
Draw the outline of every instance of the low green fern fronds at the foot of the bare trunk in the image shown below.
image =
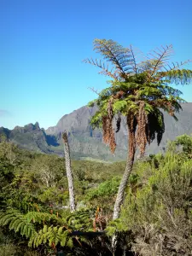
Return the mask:
<path fill-rule="evenodd" d="M 72 247 L 73 238 L 69 235 L 73 230 L 91 230 L 93 221 L 90 214 L 89 209 L 82 209 L 73 213 L 68 212 L 65 218 L 58 218 L 55 214 L 47 212 L 23 214 L 8 210 L 0 214 L 0 226 L 8 225 L 9 230 L 14 230 L 21 236 L 29 238 L 30 247 L 38 247 L 46 243 L 49 247 L 56 247 L 57 244 L 61 247 Z"/>

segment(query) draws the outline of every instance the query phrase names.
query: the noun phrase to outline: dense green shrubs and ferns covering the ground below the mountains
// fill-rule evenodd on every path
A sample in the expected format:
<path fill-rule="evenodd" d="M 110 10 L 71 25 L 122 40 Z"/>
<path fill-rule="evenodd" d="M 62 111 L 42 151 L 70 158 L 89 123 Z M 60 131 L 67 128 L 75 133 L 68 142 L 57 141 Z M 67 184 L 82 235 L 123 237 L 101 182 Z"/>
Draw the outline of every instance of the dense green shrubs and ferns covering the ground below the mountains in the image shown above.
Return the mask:
<path fill-rule="evenodd" d="M 192 137 L 137 160 L 120 217 L 113 204 L 125 162 L 73 160 L 69 211 L 65 160 L 0 143 L 0 255 L 191 255 Z"/>

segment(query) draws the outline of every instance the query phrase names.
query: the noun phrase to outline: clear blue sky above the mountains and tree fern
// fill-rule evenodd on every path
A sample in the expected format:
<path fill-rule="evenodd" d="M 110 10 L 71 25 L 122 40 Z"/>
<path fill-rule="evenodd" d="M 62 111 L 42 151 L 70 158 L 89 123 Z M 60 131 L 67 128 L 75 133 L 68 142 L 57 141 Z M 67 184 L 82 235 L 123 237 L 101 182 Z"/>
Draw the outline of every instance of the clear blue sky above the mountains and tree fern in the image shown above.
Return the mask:
<path fill-rule="evenodd" d="M 95 38 L 144 53 L 173 44 L 172 61 L 192 59 L 191 9 L 191 0 L 1 0 L 0 126 L 46 129 L 94 99 L 88 87 L 108 80 L 82 62 L 96 56 Z M 179 89 L 192 102 L 192 84 Z"/>

